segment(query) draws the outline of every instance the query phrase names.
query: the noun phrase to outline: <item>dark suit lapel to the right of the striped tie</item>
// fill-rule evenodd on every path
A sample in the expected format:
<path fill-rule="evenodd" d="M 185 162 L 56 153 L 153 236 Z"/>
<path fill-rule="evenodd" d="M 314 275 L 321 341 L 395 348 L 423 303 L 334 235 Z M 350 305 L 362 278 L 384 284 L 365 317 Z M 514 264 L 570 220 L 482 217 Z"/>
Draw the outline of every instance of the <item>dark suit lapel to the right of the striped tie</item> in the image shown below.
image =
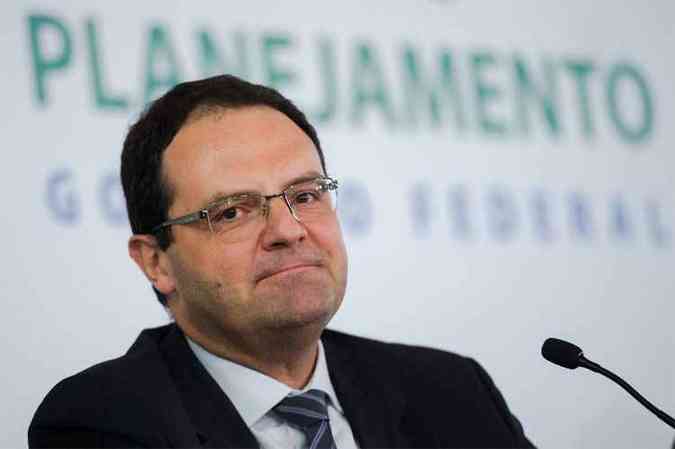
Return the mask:
<path fill-rule="evenodd" d="M 325 331 L 322 342 L 331 382 L 357 445 L 361 448 L 410 447 L 400 432 L 405 398 L 393 380 L 394 373 L 378 376 L 381 367 L 358 357 L 348 342 L 336 341 L 336 335 Z"/>

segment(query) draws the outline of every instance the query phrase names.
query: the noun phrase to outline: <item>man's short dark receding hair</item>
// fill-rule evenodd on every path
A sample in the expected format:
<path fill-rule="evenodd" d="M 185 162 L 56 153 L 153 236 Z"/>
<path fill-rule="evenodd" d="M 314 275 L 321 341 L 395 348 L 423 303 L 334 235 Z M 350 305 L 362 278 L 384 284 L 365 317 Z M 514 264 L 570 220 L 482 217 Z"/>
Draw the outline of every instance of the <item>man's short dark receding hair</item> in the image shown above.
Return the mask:
<path fill-rule="evenodd" d="M 173 192 L 162 177 L 162 155 L 191 115 L 252 106 L 268 106 L 293 120 L 314 143 L 326 173 L 316 130 L 305 114 L 276 90 L 233 75 L 181 83 L 150 103 L 124 139 L 120 174 L 134 234 L 152 234 L 155 226 L 168 219 Z M 159 247 L 167 249 L 172 241 L 171 230 L 165 228 L 154 234 Z M 156 289 L 155 293 L 166 306 L 166 297 Z"/>

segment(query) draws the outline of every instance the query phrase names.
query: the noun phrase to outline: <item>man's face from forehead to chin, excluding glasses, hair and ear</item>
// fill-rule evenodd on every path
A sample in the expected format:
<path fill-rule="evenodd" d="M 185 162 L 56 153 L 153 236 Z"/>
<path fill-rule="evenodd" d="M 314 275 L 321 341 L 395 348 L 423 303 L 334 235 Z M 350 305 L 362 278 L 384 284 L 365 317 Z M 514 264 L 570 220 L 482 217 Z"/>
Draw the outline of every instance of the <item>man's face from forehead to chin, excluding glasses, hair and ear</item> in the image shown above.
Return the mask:
<path fill-rule="evenodd" d="M 322 174 L 311 139 L 268 107 L 209 113 L 189 121 L 163 156 L 173 190 L 169 217 L 194 212 L 214 196 L 275 194 Z M 174 281 L 169 306 L 193 338 L 246 345 L 275 332 L 323 329 L 347 281 L 347 256 L 335 213 L 296 221 L 283 199 L 270 202 L 262 225 L 227 242 L 205 223 L 175 225 L 167 249 Z"/>

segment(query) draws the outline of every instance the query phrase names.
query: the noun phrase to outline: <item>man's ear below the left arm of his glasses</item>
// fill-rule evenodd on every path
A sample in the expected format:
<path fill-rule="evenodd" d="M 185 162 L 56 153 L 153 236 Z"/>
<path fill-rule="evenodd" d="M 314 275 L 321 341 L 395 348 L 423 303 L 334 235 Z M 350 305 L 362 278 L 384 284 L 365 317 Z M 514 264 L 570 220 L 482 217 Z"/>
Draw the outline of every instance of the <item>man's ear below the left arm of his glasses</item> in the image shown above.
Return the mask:
<path fill-rule="evenodd" d="M 129 256 L 152 285 L 165 296 L 176 290 L 171 261 L 166 251 L 159 247 L 155 237 L 147 234 L 132 235 L 129 238 Z"/>

